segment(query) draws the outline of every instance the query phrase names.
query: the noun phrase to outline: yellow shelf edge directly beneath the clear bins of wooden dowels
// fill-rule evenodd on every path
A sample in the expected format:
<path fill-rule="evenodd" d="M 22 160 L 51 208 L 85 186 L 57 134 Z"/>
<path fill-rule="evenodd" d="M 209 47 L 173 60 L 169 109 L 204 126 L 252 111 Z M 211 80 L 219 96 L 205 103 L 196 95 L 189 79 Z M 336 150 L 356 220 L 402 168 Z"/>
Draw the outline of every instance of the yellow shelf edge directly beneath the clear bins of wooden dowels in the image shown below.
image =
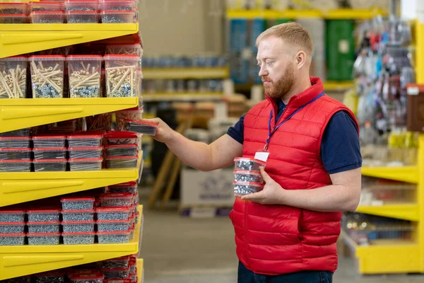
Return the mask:
<path fill-rule="evenodd" d="M 0 132 L 114 112 L 139 98 L 12 98 L 0 100 Z"/>

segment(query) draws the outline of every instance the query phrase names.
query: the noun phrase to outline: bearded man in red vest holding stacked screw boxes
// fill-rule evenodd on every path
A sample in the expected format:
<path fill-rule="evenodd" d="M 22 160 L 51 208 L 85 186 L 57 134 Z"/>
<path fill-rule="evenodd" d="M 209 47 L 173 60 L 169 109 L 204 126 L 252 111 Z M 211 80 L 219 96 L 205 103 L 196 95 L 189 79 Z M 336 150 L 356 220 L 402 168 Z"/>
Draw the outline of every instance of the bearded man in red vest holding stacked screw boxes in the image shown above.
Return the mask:
<path fill-rule="evenodd" d="M 299 23 L 257 38 L 266 100 L 212 144 L 191 141 L 160 119 L 155 139 L 201 171 L 237 156 L 266 156 L 264 190 L 236 195 L 230 213 L 240 260 L 238 282 L 332 282 L 342 211 L 360 199 L 358 122 L 310 77 L 313 46 Z M 259 156 L 259 155 L 258 155 Z"/>

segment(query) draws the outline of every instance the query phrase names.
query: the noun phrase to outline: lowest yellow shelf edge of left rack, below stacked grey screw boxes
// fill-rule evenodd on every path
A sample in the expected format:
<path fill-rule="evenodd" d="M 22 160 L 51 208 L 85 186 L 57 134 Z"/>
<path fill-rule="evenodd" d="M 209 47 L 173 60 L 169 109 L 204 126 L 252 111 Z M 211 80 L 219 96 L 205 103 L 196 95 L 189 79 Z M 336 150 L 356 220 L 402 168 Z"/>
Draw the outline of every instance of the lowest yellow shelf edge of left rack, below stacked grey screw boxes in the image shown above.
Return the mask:
<path fill-rule="evenodd" d="M 139 206 L 143 215 L 143 206 Z M 38 272 L 83 265 L 139 252 L 139 233 L 142 225 L 136 224 L 134 238 L 129 243 L 58 245 L 58 246 L 0 246 L 0 280 L 33 275 Z"/>

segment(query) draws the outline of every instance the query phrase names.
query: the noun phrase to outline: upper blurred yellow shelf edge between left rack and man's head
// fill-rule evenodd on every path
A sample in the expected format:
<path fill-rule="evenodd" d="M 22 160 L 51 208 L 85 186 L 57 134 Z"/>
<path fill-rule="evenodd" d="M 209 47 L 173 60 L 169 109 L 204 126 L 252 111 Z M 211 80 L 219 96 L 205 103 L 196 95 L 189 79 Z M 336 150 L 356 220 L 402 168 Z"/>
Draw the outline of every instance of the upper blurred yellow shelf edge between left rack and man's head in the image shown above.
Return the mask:
<path fill-rule="evenodd" d="M 228 68 L 144 68 L 143 79 L 225 79 Z"/>

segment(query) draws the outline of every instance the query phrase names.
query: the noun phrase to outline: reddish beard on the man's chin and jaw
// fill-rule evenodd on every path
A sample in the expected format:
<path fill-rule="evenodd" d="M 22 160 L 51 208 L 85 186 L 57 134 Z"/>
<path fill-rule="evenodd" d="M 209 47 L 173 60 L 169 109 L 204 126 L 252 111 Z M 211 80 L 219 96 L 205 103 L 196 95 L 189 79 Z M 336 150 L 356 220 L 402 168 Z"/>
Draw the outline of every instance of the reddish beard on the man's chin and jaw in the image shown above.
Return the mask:
<path fill-rule="evenodd" d="M 293 64 L 288 64 L 288 66 L 285 68 L 283 76 L 281 76 L 278 81 L 274 82 L 271 81 L 266 76 L 262 77 L 262 82 L 270 81 L 270 86 L 265 86 L 264 84 L 264 90 L 265 93 L 270 98 L 283 98 L 291 88 L 293 88 L 293 85 L 295 84 L 295 73 L 293 71 Z"/>

